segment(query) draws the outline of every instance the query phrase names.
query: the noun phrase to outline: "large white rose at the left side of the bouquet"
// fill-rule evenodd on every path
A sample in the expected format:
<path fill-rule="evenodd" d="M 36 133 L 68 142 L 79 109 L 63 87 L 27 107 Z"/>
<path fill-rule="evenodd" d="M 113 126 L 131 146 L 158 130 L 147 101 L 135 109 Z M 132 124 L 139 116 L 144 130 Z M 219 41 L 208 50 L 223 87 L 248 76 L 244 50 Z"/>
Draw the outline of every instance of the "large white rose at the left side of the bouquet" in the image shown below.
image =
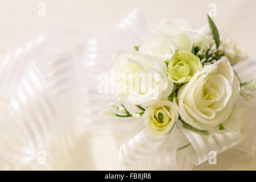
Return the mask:
<path fill-rule="evenodd" d="M 131 104 L 155 104 L 168 97 L 174 86 L 167 78 L 167 65 L 162 59 L 137 51 L 118 52 L 110 72 L 114 73 L 110 78 L 116 93 Z"/>

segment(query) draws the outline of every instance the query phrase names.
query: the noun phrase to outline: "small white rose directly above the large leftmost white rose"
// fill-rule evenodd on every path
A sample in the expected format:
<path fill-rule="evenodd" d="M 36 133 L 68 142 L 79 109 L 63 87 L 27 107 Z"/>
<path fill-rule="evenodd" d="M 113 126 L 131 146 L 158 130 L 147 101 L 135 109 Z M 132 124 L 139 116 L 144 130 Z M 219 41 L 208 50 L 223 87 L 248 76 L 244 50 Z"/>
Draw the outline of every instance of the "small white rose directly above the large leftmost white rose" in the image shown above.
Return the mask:
<path fill-rule="evenodd" d="M 154 35 L 146 39 L 139 47 L 139 52 L 157 56 L 163 60 L 171 59 L 176 51 L 176 39 L 169 35 Z"/>

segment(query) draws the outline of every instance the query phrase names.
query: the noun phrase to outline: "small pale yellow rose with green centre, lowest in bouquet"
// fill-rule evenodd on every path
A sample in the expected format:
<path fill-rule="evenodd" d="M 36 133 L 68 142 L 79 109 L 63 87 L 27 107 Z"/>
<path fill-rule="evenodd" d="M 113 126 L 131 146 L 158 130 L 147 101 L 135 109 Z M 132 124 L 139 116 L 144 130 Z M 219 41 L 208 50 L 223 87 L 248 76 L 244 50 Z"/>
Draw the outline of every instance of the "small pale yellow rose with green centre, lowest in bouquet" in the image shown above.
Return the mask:
<path fill-rule="evenodd" d="M 171 101 L 162 100 L 148 106 L 143 114 L 148 133 L 154 138 L 163 138 L 170 134 L 179 114 L 177 105 Z"/>

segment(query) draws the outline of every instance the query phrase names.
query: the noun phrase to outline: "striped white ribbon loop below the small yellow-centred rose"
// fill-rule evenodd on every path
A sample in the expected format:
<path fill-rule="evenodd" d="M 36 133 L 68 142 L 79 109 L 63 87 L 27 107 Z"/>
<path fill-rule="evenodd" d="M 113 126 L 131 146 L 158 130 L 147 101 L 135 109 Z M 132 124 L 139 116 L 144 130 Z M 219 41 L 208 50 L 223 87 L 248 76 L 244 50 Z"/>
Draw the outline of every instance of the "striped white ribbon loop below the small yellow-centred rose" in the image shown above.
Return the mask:
<path fill-rule="evenodd" d="M 192 163 L 171 140 L 172 135 L 162 139 L 150 137 L 141 121 L 123 139 L 118 164 L 133 170 L 191 170 Z"/>

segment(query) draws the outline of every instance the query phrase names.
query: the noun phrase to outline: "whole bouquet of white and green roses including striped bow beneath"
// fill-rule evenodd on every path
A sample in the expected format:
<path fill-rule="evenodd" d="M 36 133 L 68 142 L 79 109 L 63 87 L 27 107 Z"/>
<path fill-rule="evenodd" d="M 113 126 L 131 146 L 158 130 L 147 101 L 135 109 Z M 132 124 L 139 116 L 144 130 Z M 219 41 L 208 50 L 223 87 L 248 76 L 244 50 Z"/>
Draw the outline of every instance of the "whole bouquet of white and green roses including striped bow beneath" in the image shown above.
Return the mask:
<path fill-rule="evenodd" d="M 190 160 L 200 164 L 209 158 L 209 151 L 222 152 L 240 140 L 245 111 L 236 101 L 240 95 L 246 100 L 253 97 L 245 91 L 255 89 L 246 86 L 255 80 L 240 81 L 232 65 L 247 56 L 229 39 L 220 39 L 209 15 L 208 23 L 195 30 L 179 20 L 163 20 L 135 50 L 119 51 L 113 57 L 110 84 L 120 106 L 110 103 L 118 111 L 108 111 L 108 115 L 144 118 L 141 132 L 121 146 L 121 167 L 189 169 Z M 131 112 L 127 105 L 137 110 Z M 180 142 L 175 126 L 187 143 Z M 199 137 L 204 140 L 201 144 Z M 184 144 L 174 150 L 167 140 Z M 183 152 L 190 159 L 187 166 L 179 166 L 182 162 L 176 152 L 191 145 L 192 151 Z M 162 152 L 169 152 L 167 156 L 175 162 L 163 163 L 166 155 Z M 164 159 L 156 160 L 157 156 Z"/>

